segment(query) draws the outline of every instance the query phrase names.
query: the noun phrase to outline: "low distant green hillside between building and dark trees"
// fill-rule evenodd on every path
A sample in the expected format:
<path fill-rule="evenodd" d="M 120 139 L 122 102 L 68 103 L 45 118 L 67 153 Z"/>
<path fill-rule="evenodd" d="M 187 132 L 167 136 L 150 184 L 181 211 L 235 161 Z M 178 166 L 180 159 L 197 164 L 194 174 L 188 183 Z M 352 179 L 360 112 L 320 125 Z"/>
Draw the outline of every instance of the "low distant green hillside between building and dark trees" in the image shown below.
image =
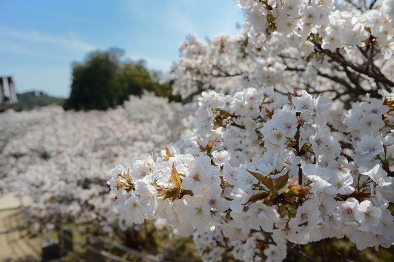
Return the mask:
<path fill-rule="evenodd" d="M 55 98 L 48 96 L 43 92 L 26 92 L 16 94 L 18 98 L 18 104 L 15 107 L 16 111 L 30 110 L 37 106 L 46 106 L 50 104 L 63 105 L 64 98 Z"/>

